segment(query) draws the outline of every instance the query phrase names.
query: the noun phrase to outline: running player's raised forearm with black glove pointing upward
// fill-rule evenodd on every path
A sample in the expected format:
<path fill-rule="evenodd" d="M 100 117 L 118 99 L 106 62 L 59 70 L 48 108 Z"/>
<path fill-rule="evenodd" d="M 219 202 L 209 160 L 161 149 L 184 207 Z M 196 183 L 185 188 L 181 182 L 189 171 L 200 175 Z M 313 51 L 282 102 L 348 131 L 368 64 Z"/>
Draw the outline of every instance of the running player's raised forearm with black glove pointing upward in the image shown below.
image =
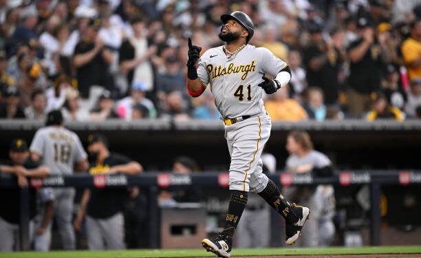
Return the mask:
<path fill-rule="evenodd" d="M 191 38 L 188 38 L 187 91 L 194 98 L 200 96 L 206 89 L 202 80 L 197 76 L 196 64 L 201 51 L 202 47 L 192 45 Z"/>

